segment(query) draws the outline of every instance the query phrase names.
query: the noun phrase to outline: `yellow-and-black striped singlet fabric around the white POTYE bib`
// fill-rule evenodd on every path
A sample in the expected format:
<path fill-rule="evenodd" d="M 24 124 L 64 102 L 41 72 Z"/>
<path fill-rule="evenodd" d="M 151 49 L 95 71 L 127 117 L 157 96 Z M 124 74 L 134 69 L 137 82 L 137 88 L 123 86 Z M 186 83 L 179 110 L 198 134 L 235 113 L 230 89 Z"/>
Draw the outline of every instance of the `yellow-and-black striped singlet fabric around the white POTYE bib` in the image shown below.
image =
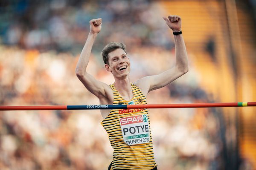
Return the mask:
<path fill-rule="evenodd" d="M 131 83 L 133 98 L 126 101 L 122 98 L 115 86 L 112 84 L 110 88 L 113 90 L 113 105 L 145 105 L 146 98 L 142 91 Z M 143 116 L 148 119 L 148 142 L 143 144 L 128 145 L 124 142 L 122 127 L 120 120 L 126 117 Z M 144 117 L 145 116 L 145 117 Z M 142 121 L 143 122 L 143 121 Z M 113 147 L 112 170 L 128 169 L 128 170 L 151 170 L 157 166 L 154 161 L 153 144 L 150 130 L 150 121 L 148 117 L 148 109 L 112 109 L 108 116 L 101 122 L 102 126 L 108 133 L 108 138 Z M 141 126 L 142 127 L 142 126 Z M 137 126 L 139 128 L 139 126 Z M 134 128 L 135 129 L 135 128 Z M 137 129 L 139 130 L 139 129 Z M 142 131 L 142 129 L 140 129 Z M 144 129 L 145 130 L 145 129 Z"/>

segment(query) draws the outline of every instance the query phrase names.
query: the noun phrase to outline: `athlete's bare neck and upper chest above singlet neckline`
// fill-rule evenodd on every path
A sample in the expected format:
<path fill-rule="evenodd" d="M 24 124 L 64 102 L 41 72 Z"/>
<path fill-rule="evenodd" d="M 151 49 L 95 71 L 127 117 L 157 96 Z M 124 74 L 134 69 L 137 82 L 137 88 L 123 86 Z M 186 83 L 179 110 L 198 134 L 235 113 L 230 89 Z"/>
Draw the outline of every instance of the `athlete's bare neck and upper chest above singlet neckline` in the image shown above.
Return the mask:
<path fill-rule="evenodd" d="M 129 101 L 133 98 L 133 92 L 131 89 L 130 78 L 126 77 L 125 79 L 115 79 L 114 85 L 116 90 L 119 91 L 123 99 Z"/>

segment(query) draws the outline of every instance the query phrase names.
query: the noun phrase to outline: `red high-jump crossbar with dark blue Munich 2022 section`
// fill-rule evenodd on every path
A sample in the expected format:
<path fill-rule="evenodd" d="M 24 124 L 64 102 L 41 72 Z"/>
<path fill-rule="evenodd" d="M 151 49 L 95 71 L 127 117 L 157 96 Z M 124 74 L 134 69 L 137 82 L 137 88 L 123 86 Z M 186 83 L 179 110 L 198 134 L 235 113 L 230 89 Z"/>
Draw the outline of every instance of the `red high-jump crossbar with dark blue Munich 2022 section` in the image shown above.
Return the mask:
<path fill-rule="evenodd" d="M 37 110 L 99 110 L 99 109 L 138 109 L 138 108 L 219 108 L 256 106 L 256 102 L 230 103 L 183 103 L 155 105 L 56 105 L 56 106 L 0 106 L 0 111 Z"/>

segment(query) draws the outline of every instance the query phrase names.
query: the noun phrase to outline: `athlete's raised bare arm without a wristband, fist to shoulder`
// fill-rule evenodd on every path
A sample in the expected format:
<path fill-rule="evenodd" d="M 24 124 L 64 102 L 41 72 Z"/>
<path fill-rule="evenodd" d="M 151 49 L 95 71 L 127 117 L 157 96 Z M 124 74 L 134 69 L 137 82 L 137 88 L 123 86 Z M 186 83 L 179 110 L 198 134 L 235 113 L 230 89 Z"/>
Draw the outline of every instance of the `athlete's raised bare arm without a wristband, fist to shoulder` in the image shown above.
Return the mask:
<path fill-rule="evenodd" d="M 101 18 L 90 20 L 90 33 L 87 37 L 84 48 L 80 54 L 79 61 L 76 65 L 76 76 L 84 84 L 88 91 L 97 96 L 100 100 L 102 98 L 111 98 L 111 96 L 108 96 L 112 93 L 109 91 L 111 89 L 105 83 L 96 80 L 93 76 L 88 74 L 86 69 L 89 62 L 93 43 L 97 37 L 97 34 L 101 30 L 101 25 Z"/>

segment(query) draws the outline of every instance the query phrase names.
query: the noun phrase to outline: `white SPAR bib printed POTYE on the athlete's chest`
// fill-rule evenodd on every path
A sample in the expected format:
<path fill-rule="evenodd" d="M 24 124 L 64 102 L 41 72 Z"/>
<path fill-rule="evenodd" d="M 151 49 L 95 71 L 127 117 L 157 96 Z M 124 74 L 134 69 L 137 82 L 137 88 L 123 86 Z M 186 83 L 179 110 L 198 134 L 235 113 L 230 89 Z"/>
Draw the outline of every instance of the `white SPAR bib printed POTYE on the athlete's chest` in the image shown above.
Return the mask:
<path fill-rule="evenodd" d="M 148 143 L 150 131 L 146 114 L 119 119 L 124 142 L 128 145 Z"/>

